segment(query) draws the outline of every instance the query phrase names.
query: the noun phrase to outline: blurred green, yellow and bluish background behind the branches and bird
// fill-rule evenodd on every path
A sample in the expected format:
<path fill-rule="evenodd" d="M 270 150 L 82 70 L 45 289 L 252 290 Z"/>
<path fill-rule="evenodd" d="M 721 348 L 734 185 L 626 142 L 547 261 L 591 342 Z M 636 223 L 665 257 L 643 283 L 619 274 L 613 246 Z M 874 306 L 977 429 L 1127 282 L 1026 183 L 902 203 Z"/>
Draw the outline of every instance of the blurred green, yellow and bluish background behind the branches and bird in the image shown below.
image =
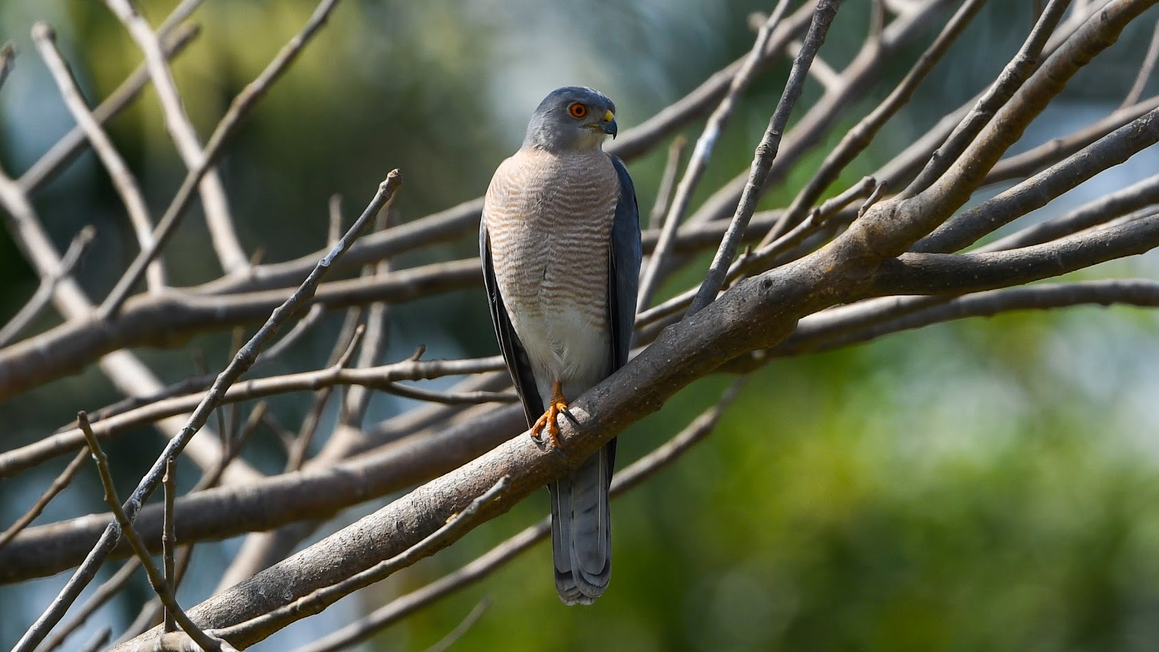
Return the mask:
<path fill-rule="evenodd" d="M 139 5 L 158 24 L 174 2 Z M 743 54 L 752 41 L 746 15 L 772 5 L 347 0 L 253 111 L 221 163 L 241 240 L 249 251 L 264 249 L 265 261 L 316 250 L 326 239 L 329 196 L 341 193 L 353 215 L 394 167 L 406 175 L 399 202 L 404 220 L 478 197 L 551 89 L 599 88 L 615 100 L 621 129 L 630 127 Z M 992 80 L 1028 32 L 1033 5 L 990 2 L 844 180 L 872 171 Z M 203 35 L 173 66 L 203 138 L 313 8 L 298 0 L 206 0 L 194 19 Z M 868 13 L 866 0 L 845 2 L 822 50 L 831 65 L 853 57 Z M 948 12 L 939 14 L 936 24 L 888 64 L 883 81 L 847 108 L 828 142 L 889 91 L 946 17 Z M 1015 151 L 1114 109 L 1157 17 L 1149 12 L 1079 75 Z M 23 171 L 73 124 L 28 37 L 36 20 L 58 30 L 90 101 L 111 91 L 140 60 L 99 2 L 0 0 L 0 39 L 20 49 L 0 90 L 0 166 L 9 174 Z M 698 200 L 746 168 L 787 69 L 787 60 L 773 66 L 745 96 Z M 818 94 L 810 82 L 796 115 Z M 152 90 L 109 130 L 160 213 L 183 168 Z M 694 139 L 699 125 L 686 133 Z M 629 166 L 646 208 L 664 149 Z M 822 155 L 818 149 L 783 188 L 773 189 L 765 205 L 792 198 Z M 1157 169 L 1159 156 L 1146 151 L 1036 217 Z M 36 206 L 61 249 L 83 225 L 96 226 L 79 277 L 92 294 L 108 292 L 136 243 L 95 156 L 82 155 L 37 196 Z M 219 273 L 198 211 L 166 254 L 170 283 L 196 284 Z M 474 247 L 474 239 L 465 237 L 396 262 L 462 257 Z M 1156 263 L 1150 255 L 1078 276 L 1153 278 Z M 697 259 L 663 293 L 692 283 L 706 265 L 707 257 Z M 36 284 L 10 239 L 0 235 L 0 317 L 14 314 Z M 37 328 L 54 318 L 43 317 Z M 331 315 L 277 371 L 325 364 L 340 321 Z M 381 632 L 364 650 L 423 650 L 484 596 L 491 607 L 457 649 L 1153 650 L 1159 642 L 1157 335 L 1153 313 L 1081 308 L 971 320 L 777 360 L 755 374 L 706 442 L 617 501 L 615 579 L 595 607 L 559 602 L 551 552 L 541 544 L 482 584 Z M 228 334 L 219 334 L 178 350 L 139 353 L 174 381 L 195 372 L 195 352 L 220 368 L 228 342 Z M 430 357 L 495 353 L 482 293 L 393 307 L 386 358 L 404 357 L 420 343 Z M 620 459 L 629 461 L 670 437 L 730 380 L 697 382 L 629 428 Z M 0 404 L 0 441 L 10 448 L 38 439 L 76 409 L 117 398 L 94 369 L 56 381 Z M 279 420 L 297 424 L 307 404 L 284 396 L 272 408 Z M 377 396 L 367 420 L 408 406 Z M 150 428 L 109 446 L 123 491 L 160 446 Z M 272 472 L 284 462 L 280 455 L 272 437 L 260 432 L 246 459 Z M 0 523 L 23 513 L 63 464 L 0 483 Z M 189 467 L 183 482 L 195 476 Z M 103 511 L 99 488 L 95 472 L 86 469 L 39 522 Z M 377 505 L 344 513 L 318 536 Z M 546 512 L 545 492 L 256 649 L 289 649 L 351 622 Z M 182 603 L 207 596 L 239 543 L 198 547 Z M 116 567 L 107 564 L 102 578 Z M 15 643 L 64 580 L 0 587 L 0 647 Z M 118 631 L 150 594 L 138 577 L 70 643 L 79 645 L 97 625 Z"/>

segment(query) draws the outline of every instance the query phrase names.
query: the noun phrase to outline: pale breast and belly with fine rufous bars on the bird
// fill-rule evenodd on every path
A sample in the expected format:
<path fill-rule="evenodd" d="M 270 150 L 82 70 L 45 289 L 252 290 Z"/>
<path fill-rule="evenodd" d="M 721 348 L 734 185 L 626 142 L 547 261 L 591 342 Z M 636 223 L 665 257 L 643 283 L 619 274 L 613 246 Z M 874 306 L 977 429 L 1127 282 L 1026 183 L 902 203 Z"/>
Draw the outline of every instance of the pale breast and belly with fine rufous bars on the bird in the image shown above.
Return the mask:
<path fill-rule="evenodd" d="M 608 250 L 618 200 L 619 178 L 600 151 L 519 152 L 500 166 L 487 191 L 483 219 L 511 325 L 537 379 L 557 378 L 567 391 L 583 391 L 607 374 Z"/>

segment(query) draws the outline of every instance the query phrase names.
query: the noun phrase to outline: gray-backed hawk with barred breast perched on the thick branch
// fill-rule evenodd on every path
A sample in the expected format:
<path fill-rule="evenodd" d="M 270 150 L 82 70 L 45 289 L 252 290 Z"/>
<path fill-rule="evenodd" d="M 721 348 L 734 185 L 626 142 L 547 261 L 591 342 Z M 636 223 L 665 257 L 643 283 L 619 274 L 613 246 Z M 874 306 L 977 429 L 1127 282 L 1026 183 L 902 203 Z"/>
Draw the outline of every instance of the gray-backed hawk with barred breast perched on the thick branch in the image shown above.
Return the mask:
<path fill-rule="evenodd" d="M 603 151 L 615 105 L 569 86 L 535 109 L 483 203 L 479 249 L 495 335 L 532 437 L 559 446 L 568 401 L 628 359 L 640 273 L 640 213 L 624 163 Z M 591 605 L 612 572 L 607 490 L 613 439 L 548 486 L 555 588 Z"/>

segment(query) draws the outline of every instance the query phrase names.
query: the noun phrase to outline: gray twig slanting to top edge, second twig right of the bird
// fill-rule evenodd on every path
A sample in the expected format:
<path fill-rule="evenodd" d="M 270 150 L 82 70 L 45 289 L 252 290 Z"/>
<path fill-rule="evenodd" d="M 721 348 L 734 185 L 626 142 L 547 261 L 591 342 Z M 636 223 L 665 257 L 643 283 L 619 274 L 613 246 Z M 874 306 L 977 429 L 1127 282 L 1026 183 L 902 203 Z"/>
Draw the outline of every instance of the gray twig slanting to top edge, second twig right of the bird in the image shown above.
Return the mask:
<path fill-rule="evenodd" d="M 749 173 L 749 182 L 741 195 L 741 203 L 737 204 L 732 221 L 729 224 L 728 230 L 724 232 L 724 237 L 721 239 L 720 249 L 716 250 L 713 263 L 708 268 L 708 273 L 705 276 L 704 283 L 700 284 L 697 298 L 692 300 L 688 312 L 685 313 L 686 317 L 697 314 L 705 306 L 712 303 L 716 299 L 716 293 L 720 292 L 721 286 L 724 285 L 728 268 L 736 256 L 737 248 L 741 246 L 741 237 L 749 226 L 749 220 L 752 218 L 753 211 L 757 208 L 760 191 L 765 185 L 765 180 L 768 177 L 768 170 L 773 166 L 773 159 L 777 157 L 777 149 L 780 147 L 785 125 L 789 122 L 789 115 L 793 112 L 793 108 L 801 96 L 801 90 L 804 88 L 804 80 L 808 78 L 812 58 L 816 57 L 821 45 L 825 42 L 825 34 L 829 31 L 829 25 L 833 22 L 839 6 L 839 0 L 818 0 L 817 2 L 812 23 L 809 25 L 809 32 L 806 35 L 804 46 L 801 47 L 796 59 L 793 61 L 793 69 L 789 72 L 788 81 L 785 82 L 785 91 L 781 94 L 781 100 L 777 103 L 777 109 L 768 119 L 768 127 L 765 130 L 760 144 L 757 145 L 757 152 Z"/>

